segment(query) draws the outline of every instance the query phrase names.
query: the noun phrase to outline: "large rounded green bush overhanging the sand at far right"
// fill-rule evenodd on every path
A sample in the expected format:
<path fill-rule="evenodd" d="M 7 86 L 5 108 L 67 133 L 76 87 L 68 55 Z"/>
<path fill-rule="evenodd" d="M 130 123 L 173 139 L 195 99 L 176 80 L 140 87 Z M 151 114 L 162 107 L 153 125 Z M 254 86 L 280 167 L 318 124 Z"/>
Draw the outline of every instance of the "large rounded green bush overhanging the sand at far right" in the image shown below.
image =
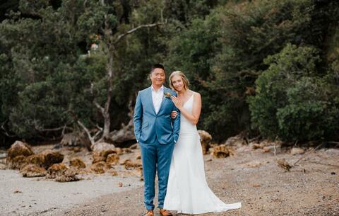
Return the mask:
<path fill-rule="evenodd" d="M 286 141 L 335 139 L 338 109 L 333 86 L 316 73 L 319 52 L 288 44 L 265 62 L 270 67 L 256 80 L 256 96 L 249 98 L 252 126 Z"/>

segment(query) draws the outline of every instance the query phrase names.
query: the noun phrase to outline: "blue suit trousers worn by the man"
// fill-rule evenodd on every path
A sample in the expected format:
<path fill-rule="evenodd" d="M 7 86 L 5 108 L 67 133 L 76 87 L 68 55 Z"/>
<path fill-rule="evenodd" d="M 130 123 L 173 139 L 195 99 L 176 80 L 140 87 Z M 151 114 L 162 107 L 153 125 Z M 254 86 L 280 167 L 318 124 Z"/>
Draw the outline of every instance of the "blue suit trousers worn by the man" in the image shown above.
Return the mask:
<path fill-rule="evenodd" d="M 155 174 L 159 184 L 158 208 L 163 208 L 167 191 L 169 167 L 171 165 L 174 143 L 160 144 L 159 142 L 145 144 L 139 142 L 141 159 L 143 161 L 144 203 L 147 210 L 153 210 L 155 197 Z"/>

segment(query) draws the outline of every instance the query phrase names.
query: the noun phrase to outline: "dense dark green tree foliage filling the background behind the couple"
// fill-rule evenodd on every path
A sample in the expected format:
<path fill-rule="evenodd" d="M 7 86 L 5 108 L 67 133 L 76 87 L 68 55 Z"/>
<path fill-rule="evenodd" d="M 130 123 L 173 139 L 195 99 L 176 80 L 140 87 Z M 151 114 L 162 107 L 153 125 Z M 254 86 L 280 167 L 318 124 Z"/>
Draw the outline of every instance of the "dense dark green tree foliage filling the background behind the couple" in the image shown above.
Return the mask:
<path fill-rule="evenodd" d="M 29 0 L 0 11 L 3 137 L 59 137 L 44 129 L 78 130 L 77 120 L 102 127 L 94 101 L 107 101 L 113 56 L 110 130 L 129 121 L 159 62 L 201 93 L 198 127 L 215 141 L 239 132 L 338 140 L 338 1 Z"/>

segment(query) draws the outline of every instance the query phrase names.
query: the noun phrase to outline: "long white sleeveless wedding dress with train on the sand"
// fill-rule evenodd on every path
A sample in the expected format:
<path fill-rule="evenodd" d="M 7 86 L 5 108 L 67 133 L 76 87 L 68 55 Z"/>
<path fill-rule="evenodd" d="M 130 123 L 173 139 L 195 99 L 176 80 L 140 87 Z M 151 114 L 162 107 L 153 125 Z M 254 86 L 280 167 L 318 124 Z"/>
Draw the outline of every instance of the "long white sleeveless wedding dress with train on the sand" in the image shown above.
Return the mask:
<path fill-rule="evenodd" d="M 193 102 L 192 95 L 183 106 L 190 113 Z M 196 125 L 181 115 L 179 139 L 172 155 L 164 208 L 184 214 L 202 214 L 241 207 L 241 203 L 223 203 L 208 187 Z"/>

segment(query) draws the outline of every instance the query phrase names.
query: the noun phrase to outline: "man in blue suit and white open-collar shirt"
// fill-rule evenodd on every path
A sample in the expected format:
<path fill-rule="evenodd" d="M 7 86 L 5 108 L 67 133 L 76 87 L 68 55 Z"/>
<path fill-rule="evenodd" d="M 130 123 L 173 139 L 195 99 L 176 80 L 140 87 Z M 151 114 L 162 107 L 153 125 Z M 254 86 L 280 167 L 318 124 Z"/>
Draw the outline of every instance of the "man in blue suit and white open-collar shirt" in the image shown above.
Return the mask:
<path fill-rule="evenodd" d="M 172 215 L 163 209 L 167 190 L 169 165 L 171 164 L 174 143 L 177 142 L 180 129 L 180 115 L 172 120 L 173 110 L 179 113 L 170 96 L 177 93 L 163 86 L 165 68 L 155 64 L 150 72 L 152 85 L 138 92 L 134 108 L 134 134 L 141 147 L 143 178 L 145 179 L 144 203 L 145 216 L 153 216 L 155 197 L 155 173 L 159 183 L 158 208 L 160 215 Z"/>

